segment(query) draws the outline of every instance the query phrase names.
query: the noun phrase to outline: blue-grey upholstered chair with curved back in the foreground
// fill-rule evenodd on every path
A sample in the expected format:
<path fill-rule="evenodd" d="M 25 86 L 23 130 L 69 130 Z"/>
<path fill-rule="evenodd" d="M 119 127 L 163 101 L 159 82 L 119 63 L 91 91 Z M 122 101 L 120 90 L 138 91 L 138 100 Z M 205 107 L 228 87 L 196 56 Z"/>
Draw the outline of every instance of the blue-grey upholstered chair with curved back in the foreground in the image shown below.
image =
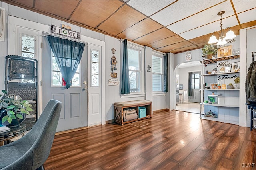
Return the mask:
<path fill-rule="evenodd" d="M 1 170 L 44 169 L 60 117 L 61 102 L 50 100 L 24 137 L 0 147 Z"/>

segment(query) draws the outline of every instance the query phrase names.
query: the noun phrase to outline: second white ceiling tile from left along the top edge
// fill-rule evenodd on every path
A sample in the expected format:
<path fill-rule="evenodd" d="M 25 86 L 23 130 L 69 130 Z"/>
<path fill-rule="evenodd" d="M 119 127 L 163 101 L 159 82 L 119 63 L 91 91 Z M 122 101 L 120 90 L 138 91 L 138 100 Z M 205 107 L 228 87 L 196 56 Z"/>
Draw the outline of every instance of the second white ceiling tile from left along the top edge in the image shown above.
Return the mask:
<path fill-rule="evenodd" d="M 191 16 L 197 12 L 205 10 L 211 6 L 214 6 L 221 0 L 179 0 L 160 12 L 152 15 L 150 18 L 159 22 L 160 24 L 167 26 L 176 21 L 182 20 L 188 16 Z"/>

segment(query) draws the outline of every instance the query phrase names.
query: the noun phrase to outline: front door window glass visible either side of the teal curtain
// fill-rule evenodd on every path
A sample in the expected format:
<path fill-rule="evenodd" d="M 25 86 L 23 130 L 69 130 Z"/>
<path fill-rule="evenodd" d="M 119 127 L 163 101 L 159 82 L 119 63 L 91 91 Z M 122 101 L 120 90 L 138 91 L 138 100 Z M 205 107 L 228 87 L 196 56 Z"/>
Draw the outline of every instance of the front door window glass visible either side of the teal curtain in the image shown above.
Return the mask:
<path fill-rule="evenodd" d="M 76 73 L 71 80 L 72 86 L 80 86 L 80 64 L 77 67 Z M 52 86 L 65 86 L 60 69 L 52 53 Z"/>

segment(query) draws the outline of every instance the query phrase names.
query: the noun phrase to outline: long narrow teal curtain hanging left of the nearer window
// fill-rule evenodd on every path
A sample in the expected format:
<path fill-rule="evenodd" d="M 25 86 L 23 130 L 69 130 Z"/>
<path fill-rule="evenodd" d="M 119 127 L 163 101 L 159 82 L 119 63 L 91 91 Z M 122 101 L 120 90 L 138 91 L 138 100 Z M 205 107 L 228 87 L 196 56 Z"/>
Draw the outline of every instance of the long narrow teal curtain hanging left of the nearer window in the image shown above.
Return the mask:
<path fill-rule="evenodd" d="M 128 65 L 128 49 L 127 39 L 123 43 L 123 64 L 122 64 L 122 86 L 121 94 L 130 93 L 130 81 L 129 81 L 129 65 Z"/>

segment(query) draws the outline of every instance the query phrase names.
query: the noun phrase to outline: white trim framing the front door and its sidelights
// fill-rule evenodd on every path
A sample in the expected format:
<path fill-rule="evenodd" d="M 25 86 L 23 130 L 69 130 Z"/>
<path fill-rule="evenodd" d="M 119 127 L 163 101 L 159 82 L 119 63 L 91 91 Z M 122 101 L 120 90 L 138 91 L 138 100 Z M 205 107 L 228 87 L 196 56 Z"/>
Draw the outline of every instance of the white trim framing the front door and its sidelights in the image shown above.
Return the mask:
<path fill-rule="evenodd" d="M 72 25 L 72 24 L 70 24 Z M 49 25 L 44 25 L 41 23 L 36 23 L 33 21 L 28 21 L 28 20 L 24 20 L 21 18 L 17 18 L 14 16 L 8 16 L 8 55 L 16 55 L 16 51 L 18 47 L 15 47 L 15 50 L 13 49 L 13 45 L 11 46 L 11 42 L 13 42 L 15 44 L 16 42 L 16 27 L 20 26 L 20 27 L 24 27 L 24 28 L 28 28 L 28 29 L 34 29 L 36 31 L 40 31 L 42 34 L 42 32 L 45 33 L 50 33 L 50 26 Z M 75 26 L 75 25 L 74 25 Z M 76 26 L 77 27 L 77 26 Z M 38 35 L 41 37 L 41 35 Z M 58 35 L 59 36 L 59 35 Z M 102 47 L 102 76 L 101 76 L 101 96 L 102 96 L 102 125 L 106 124 L 106 112 L 105 112 L 105 76 L 103 74 L 104 70 L 105 70 L 105 42 L 104 41 L 100 41 L 98 39 L 93 39 L 91 37 L 86 37 L 84 35 L 81 35 L 81 40 L 82 42 L 88 43 L 88 44 L 94 44 L 94 45 L 98 45 Z M 9 43 L 10 42 L 10 43 Z M 16 46 L 16 45 L 15 45 Z M 42 51 L 42 49 L 39 49 L 40 51 Z M 41 63 L 42 61 L 42 52 L 38 54 L 39 58 L 38 58 L 38 62 Z M 42 80 L 42 66 L 39 64 L 39 69 L 38 70 L 38 82 L 40 82 Z M 39 86 L 39 96 L 42 97 L 42 88 L 40 86 L 40 83 L 38 84 Z M 42 98 L 39 98 L 39 115 L 42 113 Z"/>

